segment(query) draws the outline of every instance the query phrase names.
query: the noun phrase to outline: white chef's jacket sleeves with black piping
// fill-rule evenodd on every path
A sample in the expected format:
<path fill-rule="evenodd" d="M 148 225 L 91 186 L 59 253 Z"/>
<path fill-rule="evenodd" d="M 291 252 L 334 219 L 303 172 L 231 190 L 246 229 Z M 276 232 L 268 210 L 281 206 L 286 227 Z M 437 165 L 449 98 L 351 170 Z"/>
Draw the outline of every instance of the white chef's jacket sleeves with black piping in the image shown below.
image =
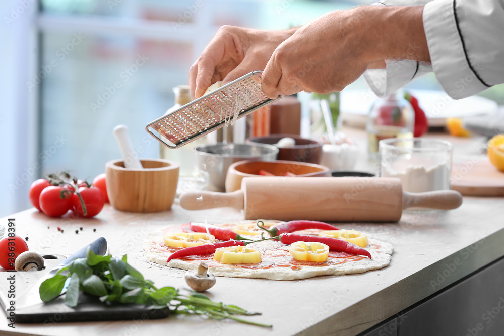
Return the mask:
<path fill-rule="evenodd" d="M 379 5 L 421 3 L 392 0 Z M 413 78 L 431 70 L 454 99 L 468 97 L 504 82 L 502 0 L 434 0 L 423 3 L 423 25 L 432 65 L 399 60 L 387 61 L 386 69 L 367 70 L 364 78 L 376 95 L 383 97 L 393 93 Z M 417 70 L 414 71 L 414 68 Z M 408 76 L 411 77 L 408 79 Z"/>

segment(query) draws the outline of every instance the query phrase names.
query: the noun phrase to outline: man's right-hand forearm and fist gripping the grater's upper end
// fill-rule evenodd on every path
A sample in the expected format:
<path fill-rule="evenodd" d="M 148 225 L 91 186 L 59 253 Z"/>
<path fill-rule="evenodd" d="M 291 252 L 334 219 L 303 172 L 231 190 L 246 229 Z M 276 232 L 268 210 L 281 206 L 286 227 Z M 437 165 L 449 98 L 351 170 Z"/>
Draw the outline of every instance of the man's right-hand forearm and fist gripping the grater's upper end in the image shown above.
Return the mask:
<path fill-rule="evenodd" d="M 428 61 L 421 7 L 364 6 L 328 13 L 282 42 L 261 77 L 269 98 L 341 91 L 384 59 Z M 417 48 L 409 48 L 415 43 Z"/>

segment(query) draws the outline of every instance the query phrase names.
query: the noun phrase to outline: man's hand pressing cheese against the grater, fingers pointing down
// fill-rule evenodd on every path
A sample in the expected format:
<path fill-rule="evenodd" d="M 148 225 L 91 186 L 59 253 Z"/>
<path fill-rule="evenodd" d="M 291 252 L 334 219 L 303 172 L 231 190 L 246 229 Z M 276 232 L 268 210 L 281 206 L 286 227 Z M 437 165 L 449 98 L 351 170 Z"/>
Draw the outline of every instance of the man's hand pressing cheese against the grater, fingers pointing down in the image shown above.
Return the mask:
<path fill-rule="evenodd" d="M 191 96 L 199 98 L 217 81 L 223 84 L 263 70 L 275 48 L 294 33 L 222 26 L 189 70 Z"/>

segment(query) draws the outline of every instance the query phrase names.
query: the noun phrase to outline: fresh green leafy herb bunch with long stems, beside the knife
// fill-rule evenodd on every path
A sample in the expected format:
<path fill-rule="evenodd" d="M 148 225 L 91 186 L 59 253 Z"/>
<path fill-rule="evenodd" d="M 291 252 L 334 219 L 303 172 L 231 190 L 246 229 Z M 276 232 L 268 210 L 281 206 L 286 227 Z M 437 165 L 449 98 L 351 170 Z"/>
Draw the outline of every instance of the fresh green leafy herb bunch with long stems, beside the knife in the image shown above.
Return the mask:
<path fill-rule="evenodd" d="M 109 255 L 96 255 L 88 247 L 86 258 L 73 260 L 54 275 L 45 280 L 39 289 L 40 299 L 49 302 L 60 295 L 69 280 L 65 295 L 65 304 L 75 307 L 79 301 L 79 293 L 85 292 L 100 298 L 100 301 L 116 301 L 120 303 L 137 303 L 163 308 L 167 305 L 175 314 L 197 314 L 222 320 L 229 318 L 237 322 L 271 327 L 255 321 L 249 321 L 236 315 L 260 315 L 248 312 L 233 305 L 224 305 L 211 301 L 206 295 L 194 293 L 182 295 L 173 287 L 156 288 L 150 280 L 128 263 L 124 255 L 122 259 Z"/>

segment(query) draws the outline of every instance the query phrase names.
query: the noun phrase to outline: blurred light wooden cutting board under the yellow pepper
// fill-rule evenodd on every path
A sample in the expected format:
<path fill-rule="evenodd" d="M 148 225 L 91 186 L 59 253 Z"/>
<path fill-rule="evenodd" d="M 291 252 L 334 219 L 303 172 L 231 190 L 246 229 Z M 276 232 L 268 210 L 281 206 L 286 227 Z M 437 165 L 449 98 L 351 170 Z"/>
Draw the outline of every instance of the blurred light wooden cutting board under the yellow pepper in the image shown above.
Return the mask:
<path fill-rule="evenodd" d="M 464 196 L 504 196 L 504 173 L 488 159 L 452 165 L 452 189 Z"/>

